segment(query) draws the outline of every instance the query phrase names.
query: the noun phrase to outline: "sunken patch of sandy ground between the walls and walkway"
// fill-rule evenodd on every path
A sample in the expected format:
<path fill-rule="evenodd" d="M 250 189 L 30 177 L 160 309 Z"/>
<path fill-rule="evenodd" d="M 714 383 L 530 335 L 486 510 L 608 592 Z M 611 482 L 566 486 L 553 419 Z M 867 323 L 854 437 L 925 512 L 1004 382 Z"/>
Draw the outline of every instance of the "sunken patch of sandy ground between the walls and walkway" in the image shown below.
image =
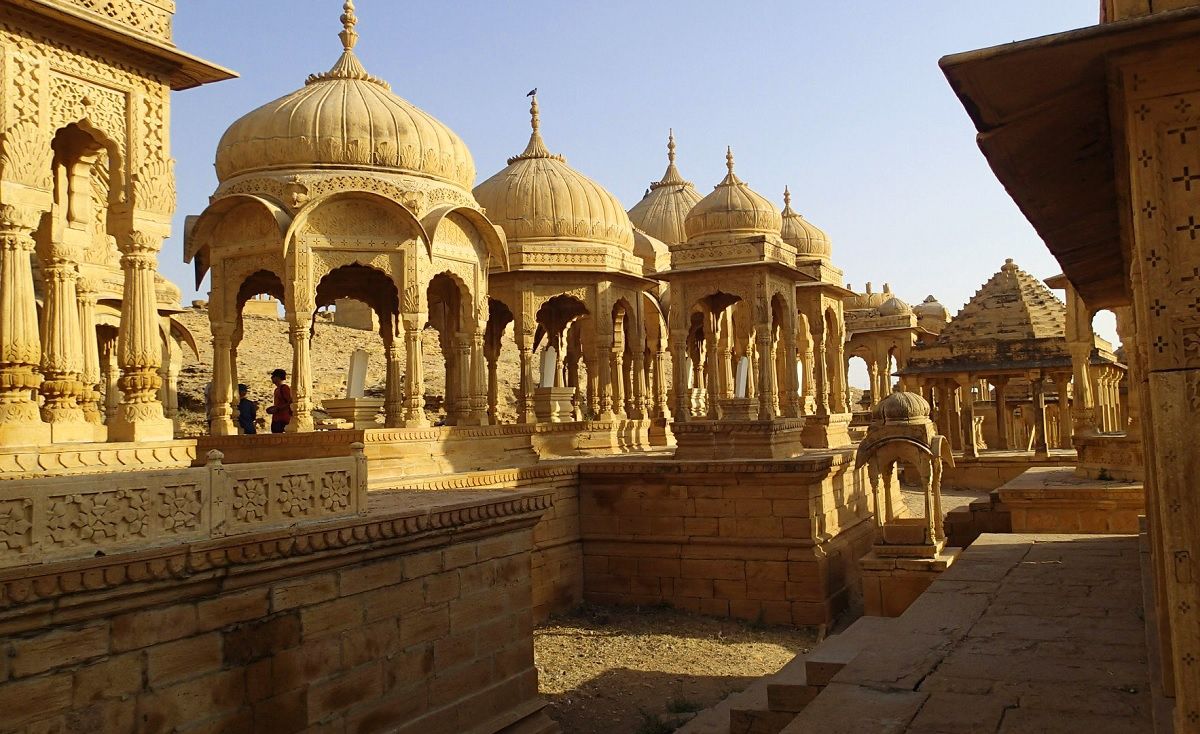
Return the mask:
<path fill-rule="evenodd" d="M 815 643 L 811 628 L 586 606 L 538 627 L 534 656 L 564 732 L 655 734 L 660 715 L 707 709 Z"/>

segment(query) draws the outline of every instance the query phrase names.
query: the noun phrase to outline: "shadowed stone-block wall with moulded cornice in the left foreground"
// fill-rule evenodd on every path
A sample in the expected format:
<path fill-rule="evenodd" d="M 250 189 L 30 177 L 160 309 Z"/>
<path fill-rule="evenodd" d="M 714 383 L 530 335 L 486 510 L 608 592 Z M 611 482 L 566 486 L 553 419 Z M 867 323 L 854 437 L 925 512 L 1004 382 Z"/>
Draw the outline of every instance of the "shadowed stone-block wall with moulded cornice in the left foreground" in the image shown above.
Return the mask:
<path fill-rule="evenodd" d="M 557 730 L 532 643 L 548 503 L 390 493 L 366 518 L 0 572 L 0 728 Z"/>

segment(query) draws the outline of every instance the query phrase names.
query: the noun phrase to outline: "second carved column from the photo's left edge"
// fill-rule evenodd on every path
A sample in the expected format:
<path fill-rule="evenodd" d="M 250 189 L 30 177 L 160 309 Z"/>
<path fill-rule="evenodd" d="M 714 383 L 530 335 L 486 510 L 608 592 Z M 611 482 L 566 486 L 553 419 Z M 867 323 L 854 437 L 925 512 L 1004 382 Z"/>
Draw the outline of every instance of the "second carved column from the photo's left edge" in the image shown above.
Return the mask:
<path fill-rule="evenodd" d="M 55 443 L 90 441 L 95 433 L 79 407 L 83 339 L 76 297 L 78 254 L 60 242 L 52 242 L 46 249 L 42 258 L 42 420 L 50 425 L 50 440 Z M 155 317 L 157 320 L 157 313 Z M 157 338 L 154 348 L 158 348 Z M 158 361 L 162 361 L 161 355 Z"/>

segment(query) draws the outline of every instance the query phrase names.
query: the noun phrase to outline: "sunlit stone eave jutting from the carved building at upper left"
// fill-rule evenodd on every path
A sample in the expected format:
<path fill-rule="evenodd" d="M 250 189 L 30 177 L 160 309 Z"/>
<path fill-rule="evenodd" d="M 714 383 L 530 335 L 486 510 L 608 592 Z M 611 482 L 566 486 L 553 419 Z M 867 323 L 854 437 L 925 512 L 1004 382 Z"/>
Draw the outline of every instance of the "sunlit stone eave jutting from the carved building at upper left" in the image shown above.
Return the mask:
<path fill-rule="evenodd" d="M 48 0 L 8 0 L 8 2 L 44 18 L 78 29 L 89 36 L 100 36 L 121 47 L 151 56 L 170 70 L 170 88 L 176 91 L 238 77 L 236 72 L 181 52 L 172 43 L 163 43 L 149 36 L 143 36 L 120 23 L 106 20 L 103 17 L 89 13 L 82 8 Z"/>

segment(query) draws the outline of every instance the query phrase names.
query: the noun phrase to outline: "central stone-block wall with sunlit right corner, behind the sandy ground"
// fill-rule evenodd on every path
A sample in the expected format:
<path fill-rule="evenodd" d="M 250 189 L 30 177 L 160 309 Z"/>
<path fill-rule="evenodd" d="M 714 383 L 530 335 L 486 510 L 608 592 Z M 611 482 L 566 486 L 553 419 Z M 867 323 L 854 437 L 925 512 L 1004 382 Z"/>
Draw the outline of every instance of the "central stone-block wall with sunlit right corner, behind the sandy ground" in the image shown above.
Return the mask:
<path fill-rule="evenodd" d="M 583 592 L 772 624 L 847 606 L 872 527 L 853 455 L 586 463 Z"/>

